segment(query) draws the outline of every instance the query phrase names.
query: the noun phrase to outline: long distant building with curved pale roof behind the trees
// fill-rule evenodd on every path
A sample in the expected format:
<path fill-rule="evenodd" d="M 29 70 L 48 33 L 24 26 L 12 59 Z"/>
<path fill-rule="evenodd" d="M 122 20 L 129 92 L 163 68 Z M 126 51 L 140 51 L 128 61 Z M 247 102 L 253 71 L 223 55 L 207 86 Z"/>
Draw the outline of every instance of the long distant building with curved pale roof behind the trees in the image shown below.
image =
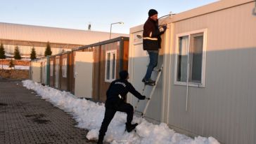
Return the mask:
<path fill-rule="evenodd" d="M 0 43 L 4 44 L 7 57 L 13 57 L 14 48 L 18 46 L 20 55 L 30 57 L 34 47 L 37 57 L 44 57 L 46 43 L 51 45 L 52 55 L 70 51 L 83 45 L 109 39 L 110 33 L 56 27 L 41 27 L 25 24 L 0 22 Z M 112 38 L 129 36 L 128 34 L 111 34 Z"/>

